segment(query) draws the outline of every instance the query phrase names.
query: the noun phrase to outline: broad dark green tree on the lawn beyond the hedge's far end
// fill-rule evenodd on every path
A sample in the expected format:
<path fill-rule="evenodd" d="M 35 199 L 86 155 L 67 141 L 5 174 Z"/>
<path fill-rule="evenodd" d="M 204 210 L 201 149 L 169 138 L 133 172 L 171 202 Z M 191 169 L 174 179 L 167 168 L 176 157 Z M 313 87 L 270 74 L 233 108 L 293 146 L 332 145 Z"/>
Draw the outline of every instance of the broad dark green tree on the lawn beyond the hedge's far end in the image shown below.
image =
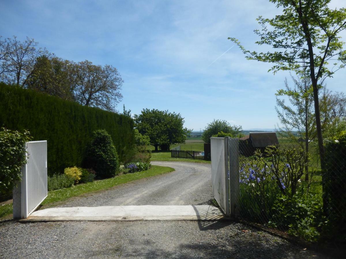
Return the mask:
<path fill-rule="evenodd" d="M 136 129 L 140 134 L 150 138 L 150 144 L 158 151 L 169 150 L 171 144 L 185 143 L 186 135 L 191 132 L 184 128 L 184 118 L 180 113 L 170 113 L 157 109 L 143 109 L 141 114 L 135 114 Z"/>

